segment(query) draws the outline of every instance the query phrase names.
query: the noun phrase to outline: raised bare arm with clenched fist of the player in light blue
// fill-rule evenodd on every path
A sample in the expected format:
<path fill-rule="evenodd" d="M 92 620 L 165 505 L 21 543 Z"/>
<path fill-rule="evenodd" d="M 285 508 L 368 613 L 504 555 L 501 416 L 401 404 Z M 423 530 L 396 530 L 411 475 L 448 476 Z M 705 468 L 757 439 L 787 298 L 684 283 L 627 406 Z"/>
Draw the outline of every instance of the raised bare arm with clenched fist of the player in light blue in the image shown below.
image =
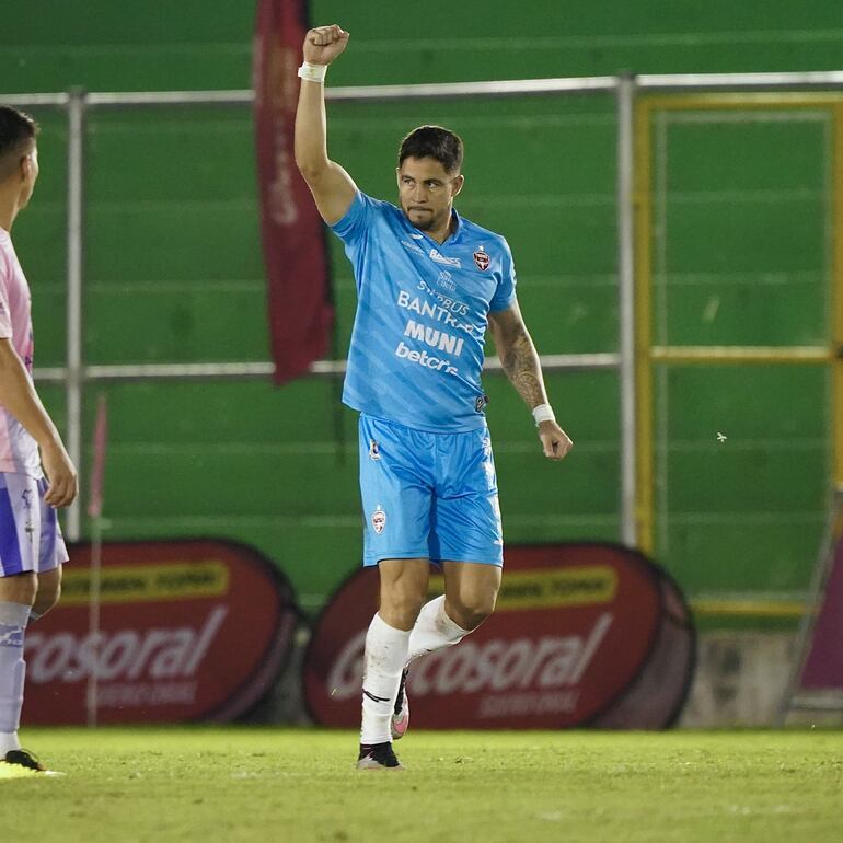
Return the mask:
<path fill-rule="evenodd" d="M 316 200 L 322 219 L 338 222 L 357 193 L 339 164 L 327 157 L 325 90 L 317 81 L 324 69 L 346 48 L 348 33 L 339 26 L 316 26 L 304 36 L 304 63 L 296 112 L 296 164 Z"/>

